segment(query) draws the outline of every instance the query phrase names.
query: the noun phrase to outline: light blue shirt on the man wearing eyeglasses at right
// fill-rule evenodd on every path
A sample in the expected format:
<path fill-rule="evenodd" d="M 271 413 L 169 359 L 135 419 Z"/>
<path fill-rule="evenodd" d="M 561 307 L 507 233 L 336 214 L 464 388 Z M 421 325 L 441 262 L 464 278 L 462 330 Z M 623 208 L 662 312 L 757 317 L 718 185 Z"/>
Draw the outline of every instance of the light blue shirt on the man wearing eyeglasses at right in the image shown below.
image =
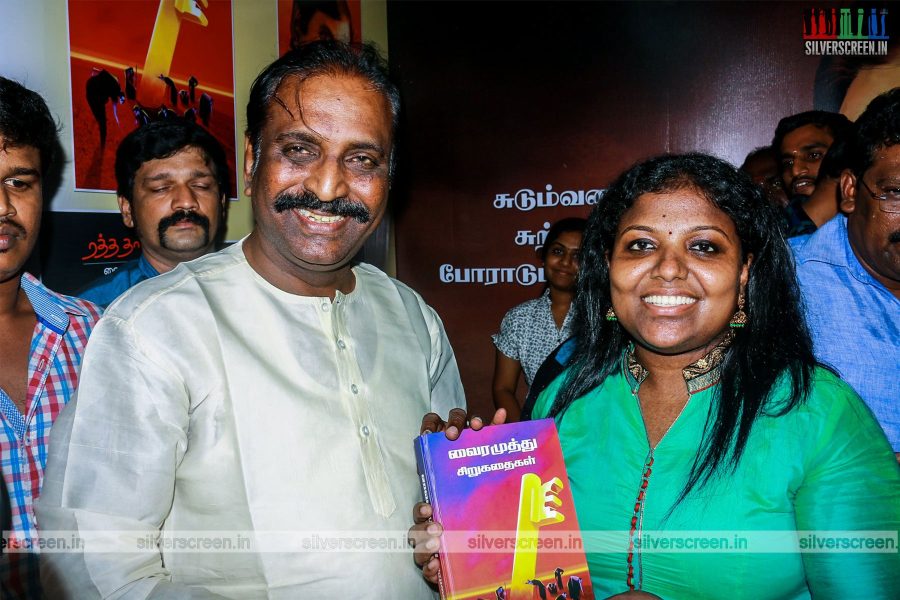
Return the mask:
<path fill-rule="evenodd" d="M 844 215 L 790 243 L 816 358 L 862 396 L 900 452 L 900 299 L 856 259 Z"/>

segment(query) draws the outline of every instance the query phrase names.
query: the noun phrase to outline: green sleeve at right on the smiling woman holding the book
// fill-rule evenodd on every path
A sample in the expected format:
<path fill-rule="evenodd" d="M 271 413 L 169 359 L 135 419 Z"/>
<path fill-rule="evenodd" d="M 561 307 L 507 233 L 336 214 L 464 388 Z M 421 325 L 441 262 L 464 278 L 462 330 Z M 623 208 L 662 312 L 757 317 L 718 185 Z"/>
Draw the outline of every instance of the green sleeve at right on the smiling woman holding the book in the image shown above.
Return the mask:
<path fill-rule="evenodd" d="M 896 598 L 900 467 L 887 438 L 859 396 L 830 374 L 818 374 L 802 410 L 814 418 L 794 499 L 797 530 L 801 550 L 804 543 L 827 550 L 803 552 L 810 592 L 816 599 Z M 847 550 L 881 543 L 881 552 Z"/>

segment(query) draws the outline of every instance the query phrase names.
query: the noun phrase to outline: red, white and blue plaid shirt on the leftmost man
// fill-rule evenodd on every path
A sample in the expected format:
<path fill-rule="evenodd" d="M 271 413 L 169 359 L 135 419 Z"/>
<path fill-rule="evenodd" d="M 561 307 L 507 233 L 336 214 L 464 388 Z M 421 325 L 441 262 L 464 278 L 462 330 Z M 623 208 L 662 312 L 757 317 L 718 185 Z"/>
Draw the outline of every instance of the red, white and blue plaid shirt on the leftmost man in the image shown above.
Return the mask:
<path fill-rule="evenodd" d="M 0 467 L 9 495 L 11 537 L 28 543 L 37 538 L 33 503 L 44 480 L 50 426 L 75 393 L 81 356 L 100 309 L 51 292 L 28 273 L 21 286 L 37 316 L 28 359 L 28 412 L 22 415 L 0 389 Z M 37 554 L 3 554 L 4 598 L 40 597 L 37 563 Z"/>

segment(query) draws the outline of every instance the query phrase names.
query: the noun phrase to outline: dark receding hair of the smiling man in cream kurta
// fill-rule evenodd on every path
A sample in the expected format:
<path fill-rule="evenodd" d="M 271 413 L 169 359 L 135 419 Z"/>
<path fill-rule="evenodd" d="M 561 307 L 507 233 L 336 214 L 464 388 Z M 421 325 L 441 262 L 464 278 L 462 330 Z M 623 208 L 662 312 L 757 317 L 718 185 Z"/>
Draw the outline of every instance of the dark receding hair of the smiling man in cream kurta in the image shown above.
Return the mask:
<path fill-rule="evenodd" d="M 345 44 L 335 40 L 317 40 L 286 52 L 257 76 L 247 102 L 247 137 L 253 145 L 254 168 L 259 162 L 263 127 L 272 103 L 286 108 L 276 96 L 282 82 L 296 78 L 301 83 L 318 76 L 351 76 L 366 80 L 382 93 L 391 106 L 391 129 L 396 132 L 400 118 L 400 91 L 388 76 L 387 64 L 377 48 L 369 43 Z M 394 156 L 390 157 L 393 173 Z"/>

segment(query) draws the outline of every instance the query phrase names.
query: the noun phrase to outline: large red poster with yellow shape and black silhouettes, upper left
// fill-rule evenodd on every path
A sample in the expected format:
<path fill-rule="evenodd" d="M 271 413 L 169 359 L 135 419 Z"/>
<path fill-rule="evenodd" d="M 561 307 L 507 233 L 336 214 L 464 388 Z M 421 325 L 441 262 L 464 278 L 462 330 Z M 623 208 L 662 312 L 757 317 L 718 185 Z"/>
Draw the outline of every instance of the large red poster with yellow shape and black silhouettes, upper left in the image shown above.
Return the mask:
<path fill-rule="evenodd" d="M 119 142 L 143 123 L 190 119 L 225 147 L 235 178 L 230 0 L 69 0 L 75 188 L 116 189 Z"/>

